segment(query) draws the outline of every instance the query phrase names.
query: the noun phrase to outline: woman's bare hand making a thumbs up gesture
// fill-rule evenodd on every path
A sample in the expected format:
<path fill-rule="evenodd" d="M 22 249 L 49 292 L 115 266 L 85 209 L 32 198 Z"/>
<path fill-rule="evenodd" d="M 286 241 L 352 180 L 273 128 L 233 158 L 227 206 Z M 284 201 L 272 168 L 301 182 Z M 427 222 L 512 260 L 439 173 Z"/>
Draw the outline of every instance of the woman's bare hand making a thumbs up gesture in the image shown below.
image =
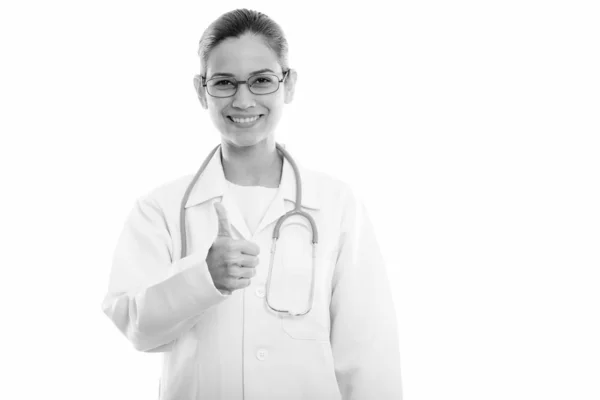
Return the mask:
<path fill-rule="evenodd" d="M 260 248 L 256 243 L 233 239 L 225 207 L 221 203 L 214 204 L 219 232 L 208 251 L 206 263 L 215 287 L 223 294 L 231 294 L 250 285 L 250 279 L 256 275 Z"/>

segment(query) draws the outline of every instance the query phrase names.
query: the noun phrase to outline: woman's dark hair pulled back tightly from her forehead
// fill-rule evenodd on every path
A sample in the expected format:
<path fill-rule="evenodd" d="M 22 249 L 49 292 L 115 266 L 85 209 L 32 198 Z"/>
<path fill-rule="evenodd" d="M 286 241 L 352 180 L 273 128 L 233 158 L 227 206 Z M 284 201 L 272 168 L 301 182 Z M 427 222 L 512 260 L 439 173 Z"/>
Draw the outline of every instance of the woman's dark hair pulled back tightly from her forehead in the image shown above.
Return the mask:
<path fill-rule="evenodd" d="M 289 69 L 288 43 L 281 27 L 263 13 L 242 8 L 221 15 L 202 34 L 198 48 L 201 74 L 206 73 L 206 62 L 212 49 L 227 38 L 237 38 L 248 32 L 262 36 L 277 55 L 283 70 Z"/>

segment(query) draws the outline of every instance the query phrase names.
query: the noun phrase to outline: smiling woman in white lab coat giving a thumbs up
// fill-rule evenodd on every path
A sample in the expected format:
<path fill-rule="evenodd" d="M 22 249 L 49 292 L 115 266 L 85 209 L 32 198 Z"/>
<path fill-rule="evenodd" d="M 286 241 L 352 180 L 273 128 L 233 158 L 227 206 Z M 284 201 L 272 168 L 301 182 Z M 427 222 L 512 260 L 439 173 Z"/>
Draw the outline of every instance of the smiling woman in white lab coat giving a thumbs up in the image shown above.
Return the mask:
<path fill-rule="evenodd" d="M 296 85 L 287 51 L 261 13 L 208 27 L 194 84 L 221 145 L 197 180 L 140 198 L 119 239 L 103 310 L 163 352 L 163 400 L 401 398 L 385 267 L 352 191 L 299 167 L 308 217 L 283 222 L 271 257 L 298 201 L 275 141 Z"/>

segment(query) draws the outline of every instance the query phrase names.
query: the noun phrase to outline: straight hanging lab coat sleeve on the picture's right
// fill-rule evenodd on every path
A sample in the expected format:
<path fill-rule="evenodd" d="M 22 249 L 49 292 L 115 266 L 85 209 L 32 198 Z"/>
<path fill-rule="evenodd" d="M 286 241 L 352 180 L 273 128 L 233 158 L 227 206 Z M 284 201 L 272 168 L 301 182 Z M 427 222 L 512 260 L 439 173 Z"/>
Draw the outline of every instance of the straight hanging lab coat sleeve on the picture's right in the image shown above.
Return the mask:
<path fill-rule="evenodd" d="M 396 314 L 363 204 L 349 195 L 332 282 L 331 346 L 343 400 L 400 400 Z"/>

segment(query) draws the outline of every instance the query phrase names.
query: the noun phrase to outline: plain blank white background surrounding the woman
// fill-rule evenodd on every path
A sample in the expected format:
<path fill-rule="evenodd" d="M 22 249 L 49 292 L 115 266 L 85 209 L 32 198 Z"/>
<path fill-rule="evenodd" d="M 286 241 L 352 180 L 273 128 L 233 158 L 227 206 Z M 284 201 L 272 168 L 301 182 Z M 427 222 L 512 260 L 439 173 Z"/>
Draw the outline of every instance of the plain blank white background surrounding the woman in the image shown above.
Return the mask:
<path fill-rule="evenodd" d="M 222 13 L 284 28 L 279 140 L 362 196 L 406 400 L 600 399 L 600 14 L 589 1 L 6 1 L 6 399 L 154 399 L 101 312 L 134 200 L 219 140 L 195 96 Z"/>

